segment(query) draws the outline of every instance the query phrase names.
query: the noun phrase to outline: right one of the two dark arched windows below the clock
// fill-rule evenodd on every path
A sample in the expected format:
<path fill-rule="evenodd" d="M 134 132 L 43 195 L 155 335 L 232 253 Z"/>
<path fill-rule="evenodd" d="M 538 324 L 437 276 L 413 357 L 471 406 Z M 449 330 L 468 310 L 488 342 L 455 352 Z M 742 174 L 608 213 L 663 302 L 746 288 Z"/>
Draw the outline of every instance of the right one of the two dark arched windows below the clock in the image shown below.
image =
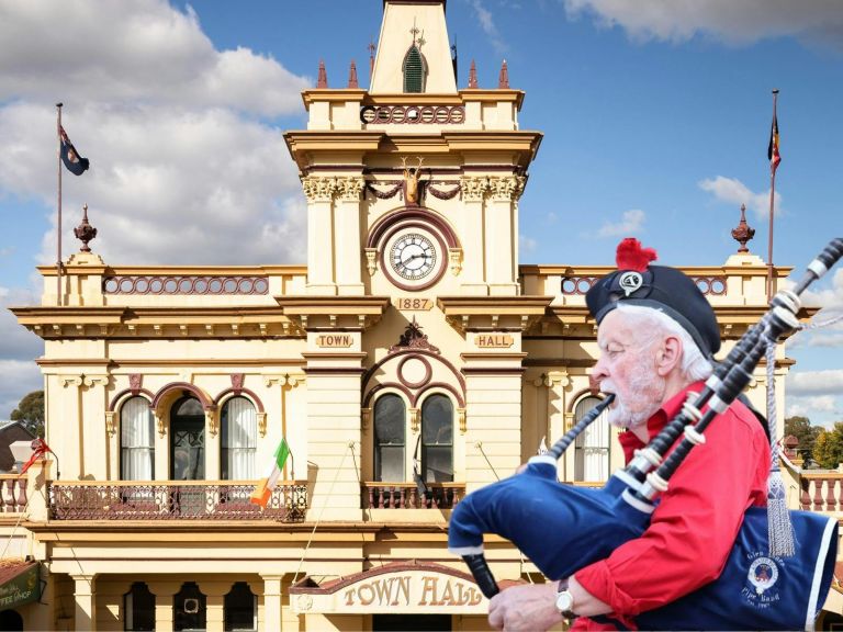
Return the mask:
<path fill-rule="evenodd" d="M 422 405 L 422 472 L 426 483 L 453 481 L 453 405 L 445 395 Z"/>

